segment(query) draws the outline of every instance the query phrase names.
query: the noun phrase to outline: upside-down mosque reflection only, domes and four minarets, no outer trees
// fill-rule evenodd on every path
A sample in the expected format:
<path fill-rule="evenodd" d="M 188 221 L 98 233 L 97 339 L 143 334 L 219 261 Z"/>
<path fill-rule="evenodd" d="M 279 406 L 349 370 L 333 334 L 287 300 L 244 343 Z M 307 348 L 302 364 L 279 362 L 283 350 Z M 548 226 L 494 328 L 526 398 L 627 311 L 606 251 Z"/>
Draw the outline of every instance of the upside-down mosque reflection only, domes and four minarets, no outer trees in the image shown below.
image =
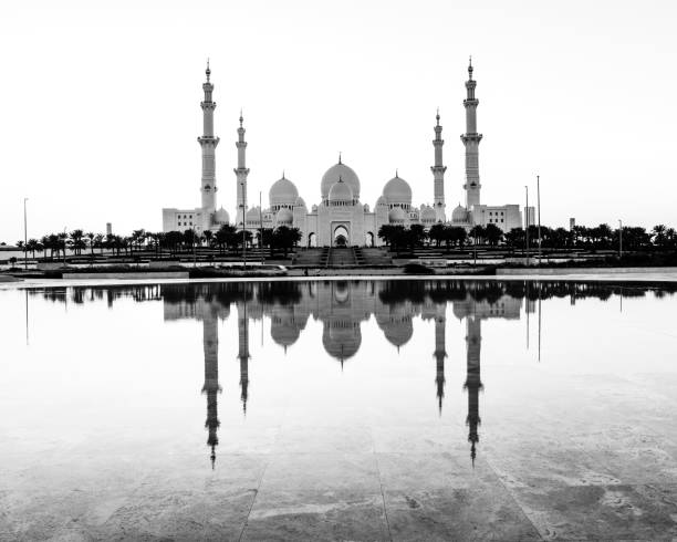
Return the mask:
<path fill-rule="evenodd" d="M 219 319 L 230 315 L 230 305 L 238 312 L 238 357 L 240 359 L 240 392 L 242 408 L 248 400 L 249 321 L 264 315 L 271 322 L 273 341 L 287 348 L 293 345 L 310 316 L 322 322 L 322 344 L 332 357 L 343 363 L 353 357 L 362 343 L 361 324 L 374 314 L 386 340 L 396 348 L 406 344 L 414 333 L 413 320 L 420 316 L 435 323 L 436 393 L 441 413 L 445 395 L 445 358 L 447 357 L 445 329 L 447 304 L 452 313 L 466 320 L 467 378 L 469 427 L 468 439 L 475 460 L 479 441 L 478 426 L 480 378 L 481 321 L 491 317 L 519 319 L 521 298 L 502 292 L 488 292 L 473 288 L 473 283 L 459 282 L 273 282 L 204 285 L 163 285 L 165 320 L 197 319 L 202 321 L 205 348 L 205 385 L 207 395 L 207 444 L 211 460 L 218 445 L 217 396 L 218 327 Z"/>

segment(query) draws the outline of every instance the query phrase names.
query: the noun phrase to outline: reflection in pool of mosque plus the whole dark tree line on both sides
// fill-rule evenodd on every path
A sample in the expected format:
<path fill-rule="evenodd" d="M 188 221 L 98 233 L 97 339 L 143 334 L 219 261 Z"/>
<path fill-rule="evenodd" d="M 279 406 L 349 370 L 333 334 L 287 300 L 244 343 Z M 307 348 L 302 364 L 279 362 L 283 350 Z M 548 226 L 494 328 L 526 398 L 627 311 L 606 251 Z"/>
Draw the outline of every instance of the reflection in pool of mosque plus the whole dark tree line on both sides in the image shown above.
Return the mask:
<path fill-rule="evenodd" d="M 476 457 L 479 441 L 479 393 L 481 322 L 489 319 L 519 319 L 522 300 L 527 321 L 537 301 L 569 296 L 576 300 L 608 300 L 644 296 L 648 292 L 660 298 L 677 291 L 674 284 L 659 289 L 627 288 L 594 282 L 524 282 L 524 281 L 323 281 L 201 283 L 163 285 L 117 285 L 54 288 L 27 290 L 30 295 L 60 303 L 104 301 L 108 306 L 117 299 L 136 302 L 164 302 L 166 321 L 195 319 L 202 321 L 205 383 L 207 396 L 207 444 L 211 460 L 218 446 L 218 321 L 230 316 L 231 305 L 238 314 L 238 357 L 240 361 L 240 399 L 247 410 L 249 398 L 249 322 L 270 319 L 271 336 L 285 351 L 300 337 L 309 317 L 322 323 L 322 344 L 327 354 L 343 363 L 353 357 L 362 344 L 361 325 L 374 314 L 386 340 L 396 348 L 405 345 L 414 333 L 413 320 L 420 317 L 435 325 L 435 388 L 441 411 L 445 396 L 445 331 L 447 306 L 454 316 L 466 320 L 466 382 L 468 394 L 468 439 L 470 455 Z M 27 298 L 28 299 L 28 298 Z M 540 303 L 539 303 L 540 306 Z M 28 313 L 27 313 L 28 314 Z"/>

